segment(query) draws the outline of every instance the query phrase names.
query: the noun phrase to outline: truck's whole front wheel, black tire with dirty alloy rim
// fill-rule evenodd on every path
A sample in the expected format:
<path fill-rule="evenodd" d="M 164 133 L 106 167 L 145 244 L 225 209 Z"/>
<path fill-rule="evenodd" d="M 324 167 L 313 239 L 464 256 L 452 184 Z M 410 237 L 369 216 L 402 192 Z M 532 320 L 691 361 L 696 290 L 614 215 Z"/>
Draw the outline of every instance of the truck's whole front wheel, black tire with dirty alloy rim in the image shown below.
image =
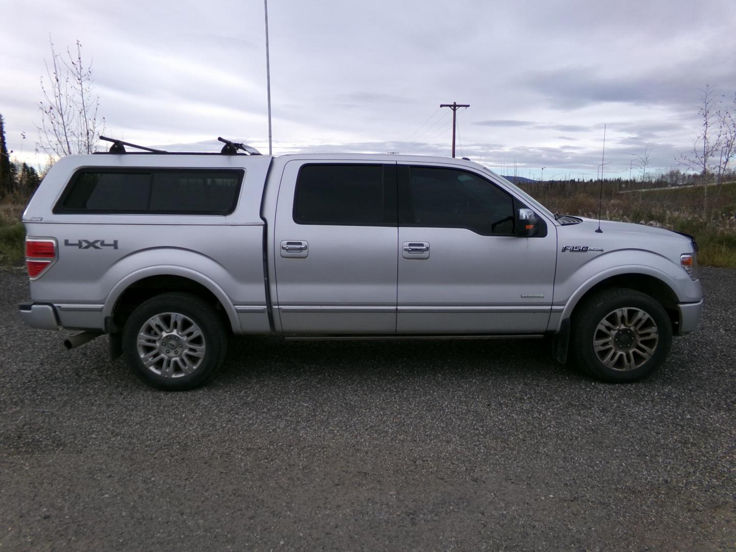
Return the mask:
<path fill-rule="evenodd" d="M 584 300 L 572 322 L 570 356 L 578 367 L 601 381 L 639 381 L 659 368 L 670 352 L 670 317 L 657 300 L 640 291 L 600 291 Z M 611 322 L 614 324 L 609 328 Z"/>

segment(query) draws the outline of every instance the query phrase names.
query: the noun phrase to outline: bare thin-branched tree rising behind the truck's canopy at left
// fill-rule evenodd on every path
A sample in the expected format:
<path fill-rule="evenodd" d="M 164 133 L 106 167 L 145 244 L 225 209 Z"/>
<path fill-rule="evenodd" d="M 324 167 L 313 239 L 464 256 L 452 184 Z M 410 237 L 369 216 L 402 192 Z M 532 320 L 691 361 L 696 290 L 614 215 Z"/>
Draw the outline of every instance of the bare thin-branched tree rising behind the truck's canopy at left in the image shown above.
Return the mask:
<path fill-rule="evenodd" d="M 82 61 L 82 44 L 76 54 L 66 49 L 66 57 L 51 46 L 51 62 L 46 63 L 47 79 L 40 78 L 43 99 L 38 102 L 41 124 L 36 146 L 48 155 L 61 157 L 92 153 L 105 130 L 99 118 L 99 96 L 93 95 L 92 62 Z"/>

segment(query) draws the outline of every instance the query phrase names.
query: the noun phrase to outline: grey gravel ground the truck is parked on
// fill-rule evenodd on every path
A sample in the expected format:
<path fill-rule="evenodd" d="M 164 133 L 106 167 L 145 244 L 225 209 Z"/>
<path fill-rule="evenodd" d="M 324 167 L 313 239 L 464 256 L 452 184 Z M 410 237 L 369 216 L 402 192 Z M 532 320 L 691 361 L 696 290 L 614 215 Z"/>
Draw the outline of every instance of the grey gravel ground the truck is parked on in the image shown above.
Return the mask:
<path fill-rule="evenodd" d="M 736 271 L 626 386 L 545 342 L 239 339 L 148 389 L 0 272 L 0 549 L 736 550 Z"/>

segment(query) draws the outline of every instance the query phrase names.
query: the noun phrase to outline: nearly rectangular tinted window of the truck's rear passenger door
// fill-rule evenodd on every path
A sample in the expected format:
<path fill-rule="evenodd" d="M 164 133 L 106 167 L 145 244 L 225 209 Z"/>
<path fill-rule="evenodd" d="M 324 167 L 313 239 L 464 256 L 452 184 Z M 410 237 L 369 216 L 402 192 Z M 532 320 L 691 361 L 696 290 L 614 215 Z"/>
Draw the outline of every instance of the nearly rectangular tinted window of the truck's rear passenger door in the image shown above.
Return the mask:
<path fill-rule="evenodd" d="M 305 165 L 294 196 L 297 224 L 396 224 L 394 165 Z"/>

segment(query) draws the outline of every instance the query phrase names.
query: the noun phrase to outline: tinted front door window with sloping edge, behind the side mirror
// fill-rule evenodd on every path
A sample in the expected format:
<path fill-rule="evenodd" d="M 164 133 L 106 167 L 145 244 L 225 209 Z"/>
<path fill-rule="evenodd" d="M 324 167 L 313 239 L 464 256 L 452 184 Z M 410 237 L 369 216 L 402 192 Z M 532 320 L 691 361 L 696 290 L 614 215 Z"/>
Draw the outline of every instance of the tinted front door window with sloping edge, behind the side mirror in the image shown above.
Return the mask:
<path fill-rule="evenodd" d="M 412 166 L 407 196 L 409 226 L 467 228 L 484 236 L 514 233 L 514 200 L 476 174 Z"/>

